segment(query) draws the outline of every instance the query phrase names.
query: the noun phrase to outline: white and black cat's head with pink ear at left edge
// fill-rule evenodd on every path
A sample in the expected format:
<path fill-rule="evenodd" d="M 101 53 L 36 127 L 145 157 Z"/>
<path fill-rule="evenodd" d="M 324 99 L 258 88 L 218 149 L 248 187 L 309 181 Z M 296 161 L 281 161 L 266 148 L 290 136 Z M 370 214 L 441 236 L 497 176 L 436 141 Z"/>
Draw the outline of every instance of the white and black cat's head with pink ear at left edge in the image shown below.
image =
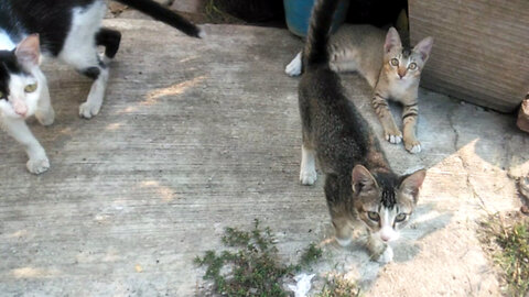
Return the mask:
<path fill-rule="evenodd" d="M 0 111 L 25 119 L 35 113 L 44 75 L 39 35 L 24 38 L 13 51 L 0 51 Z M 44 82 L 45 84 L 45 82 Z"/>

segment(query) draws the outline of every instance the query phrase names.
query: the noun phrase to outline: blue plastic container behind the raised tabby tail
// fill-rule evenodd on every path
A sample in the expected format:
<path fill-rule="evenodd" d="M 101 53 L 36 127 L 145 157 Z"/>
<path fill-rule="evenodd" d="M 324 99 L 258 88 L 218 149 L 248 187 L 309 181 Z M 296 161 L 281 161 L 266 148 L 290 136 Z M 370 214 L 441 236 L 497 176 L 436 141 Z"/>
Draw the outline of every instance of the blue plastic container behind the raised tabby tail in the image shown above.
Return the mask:
<path fill-rule="evenodd" d="M 306 36 L 309 31 L 309 22 L 311 19 L 312 7 L 315 0 L 283 0 L 284 14 L 287 18 L 287 25 L 290 32 L 298 36 Z M 342 0 L 334 13 L 332 31 L 336 31 L 338 26 L 345 21 L 347 16 L 347 9 L 349 8 L 349 0 Z"/>

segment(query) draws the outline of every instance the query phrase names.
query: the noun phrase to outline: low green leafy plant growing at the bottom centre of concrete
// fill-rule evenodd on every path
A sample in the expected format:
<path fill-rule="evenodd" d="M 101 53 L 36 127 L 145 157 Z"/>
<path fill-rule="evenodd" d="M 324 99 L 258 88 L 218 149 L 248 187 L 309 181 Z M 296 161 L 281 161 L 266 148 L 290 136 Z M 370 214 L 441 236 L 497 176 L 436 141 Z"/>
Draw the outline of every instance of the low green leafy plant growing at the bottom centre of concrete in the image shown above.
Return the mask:
<path fill-rule="evenodd" d="M 207 266 L 204 279 L 213 280 L 215 293 L 236 297 L 289 296 L 282 278 L 300 266 L 280 262 L 269 228 L 261 229 L 258 220 L 250 232 L 226 228 L 222 241 L 235 251 L 207 251 L 204 257 L 195 258 L 196 264 Z M 228 273 L 222 273 L 223 267 Z"/>

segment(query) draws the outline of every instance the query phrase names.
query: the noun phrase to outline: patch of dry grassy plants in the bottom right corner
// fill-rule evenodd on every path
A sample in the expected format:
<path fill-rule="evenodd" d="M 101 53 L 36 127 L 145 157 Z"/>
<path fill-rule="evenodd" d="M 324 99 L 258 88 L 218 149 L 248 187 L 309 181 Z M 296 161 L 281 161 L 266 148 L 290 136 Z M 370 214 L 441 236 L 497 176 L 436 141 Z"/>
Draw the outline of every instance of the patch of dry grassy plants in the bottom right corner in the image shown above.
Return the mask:
<path fill-rule="evenodd" d="M 494 243 L 489 249 L 494 251 L 495 262 L 501 267 L 509 296 L 528 296 L 529 220 L 518 218 L 509 220 L 496 215 L 483 223 L 482 229 L 485 242 Z"/>

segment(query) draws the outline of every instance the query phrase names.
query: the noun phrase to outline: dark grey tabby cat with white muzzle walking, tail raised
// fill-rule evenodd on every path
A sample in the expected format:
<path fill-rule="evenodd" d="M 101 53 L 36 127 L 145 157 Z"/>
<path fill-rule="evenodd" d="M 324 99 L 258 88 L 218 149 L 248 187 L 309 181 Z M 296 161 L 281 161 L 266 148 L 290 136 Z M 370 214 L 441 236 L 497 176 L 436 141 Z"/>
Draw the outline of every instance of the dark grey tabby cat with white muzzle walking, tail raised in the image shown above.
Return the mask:
<path fill-rule="evenodd" d="M 302 122 L 300 180 L 316 182 L 316 160 L 325 174 L 325 197 L 336 241 L 347 245 L 353 227 L 365 226 L 374 260 L 390 262 L 388 242 L 399 237 L 419 198 L 427 172 L 395 174 L 369 124 L 346 97 L 330 67 L 327 40 L 338 0 L 317 0 L 303 50 L 305 69 L 299 86 Z"/>

